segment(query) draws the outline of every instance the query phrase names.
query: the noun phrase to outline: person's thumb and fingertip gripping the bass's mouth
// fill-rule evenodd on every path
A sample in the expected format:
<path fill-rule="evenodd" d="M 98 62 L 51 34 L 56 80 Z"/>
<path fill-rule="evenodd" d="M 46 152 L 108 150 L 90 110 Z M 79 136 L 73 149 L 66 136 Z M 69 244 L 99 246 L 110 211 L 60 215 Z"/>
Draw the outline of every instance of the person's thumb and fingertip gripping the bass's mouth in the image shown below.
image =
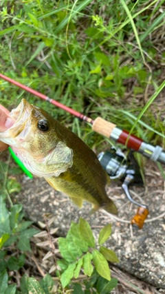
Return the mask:
<path fill-rule="evenodd" d="M 14 120 L 9 116 L 10 112 L 8 109 L 0 105 L 0 132 L 4 132 L 14 125 Z M 0 142 L 0 151 L 8 148 L 8 145 Z"/>

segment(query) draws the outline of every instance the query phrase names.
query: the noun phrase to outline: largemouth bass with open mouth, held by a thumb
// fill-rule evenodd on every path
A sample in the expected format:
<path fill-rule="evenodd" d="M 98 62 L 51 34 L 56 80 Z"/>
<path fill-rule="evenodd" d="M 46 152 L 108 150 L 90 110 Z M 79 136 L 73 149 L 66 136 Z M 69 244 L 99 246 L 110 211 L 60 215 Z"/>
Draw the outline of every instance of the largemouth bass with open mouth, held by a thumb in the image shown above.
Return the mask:
<path fill-rule="evenodd" d="M 76 134 L 47 112 L 25 99 L 10 112 L 14 125 L 0 133 L 0 140 L 32 174 L 43 177 L 81 207 L 83 200 L 109 213 L 117 213 L 105 191 L 108 175 L 94 153 Z"/>

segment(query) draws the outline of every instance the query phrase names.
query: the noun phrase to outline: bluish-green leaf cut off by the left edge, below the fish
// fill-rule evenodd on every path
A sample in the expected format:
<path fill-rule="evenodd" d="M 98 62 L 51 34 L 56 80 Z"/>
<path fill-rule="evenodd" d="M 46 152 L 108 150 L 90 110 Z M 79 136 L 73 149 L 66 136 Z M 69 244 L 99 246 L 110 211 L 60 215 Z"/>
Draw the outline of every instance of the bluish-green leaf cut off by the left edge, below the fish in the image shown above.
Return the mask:
<path fill-rule="evenodd" d="M 0 197 L 0 237 L 4 233 L 10 233 L 9 212 L 3 197 Z"/>

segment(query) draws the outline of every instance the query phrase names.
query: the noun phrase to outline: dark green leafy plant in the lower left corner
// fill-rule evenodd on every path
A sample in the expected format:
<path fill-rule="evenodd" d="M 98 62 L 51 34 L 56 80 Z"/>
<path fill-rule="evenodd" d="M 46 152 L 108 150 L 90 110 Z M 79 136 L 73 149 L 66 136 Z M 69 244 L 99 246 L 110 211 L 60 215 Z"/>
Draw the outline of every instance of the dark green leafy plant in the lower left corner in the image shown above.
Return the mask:
<path fill-rule="evenodd" d="M 5 248 L 8 246 L 17 246 L 20 251 L 31 250 L 30 237 L 39 232 L 34 228 L 28 229 L 32 222 L 23 221 L 23 213 L 21 213 L 21 204 L 15 204 L 10 209 L 6 207 L 5 196 L 0 196 L 0 293 L 15 294 L 17 293 L 17 285 L 8 286 L 8 270 L 17 271 L 21 269 L 25 263 L 25 254 L 17 254 L 16 256 L 8 255 Z M 25 237 L 26 236 L 26 237 Z M 25 244 L 25 242 L 27 242 Z M 25 244 L 25 245 L 24 245 Z M 16 252 L 18 251 L 16 249 Z"/>

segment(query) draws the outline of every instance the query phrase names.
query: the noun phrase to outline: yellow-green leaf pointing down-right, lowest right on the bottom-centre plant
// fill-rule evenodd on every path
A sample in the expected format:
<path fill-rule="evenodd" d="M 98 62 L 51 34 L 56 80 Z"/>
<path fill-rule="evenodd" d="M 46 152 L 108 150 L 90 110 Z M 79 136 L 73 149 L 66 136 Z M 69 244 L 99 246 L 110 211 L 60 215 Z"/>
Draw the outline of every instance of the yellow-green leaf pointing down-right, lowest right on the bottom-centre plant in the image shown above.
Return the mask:
<path fill-rule="evenodd" d="M 109 264 L 104 256 L 96 249 L 92 251 L 94 266 L 96 267 L 96 271 L 99 273 L 101 277 L 104 277 L 108 281 L 111 280 L 111 273 L 109 269 Z"/>

